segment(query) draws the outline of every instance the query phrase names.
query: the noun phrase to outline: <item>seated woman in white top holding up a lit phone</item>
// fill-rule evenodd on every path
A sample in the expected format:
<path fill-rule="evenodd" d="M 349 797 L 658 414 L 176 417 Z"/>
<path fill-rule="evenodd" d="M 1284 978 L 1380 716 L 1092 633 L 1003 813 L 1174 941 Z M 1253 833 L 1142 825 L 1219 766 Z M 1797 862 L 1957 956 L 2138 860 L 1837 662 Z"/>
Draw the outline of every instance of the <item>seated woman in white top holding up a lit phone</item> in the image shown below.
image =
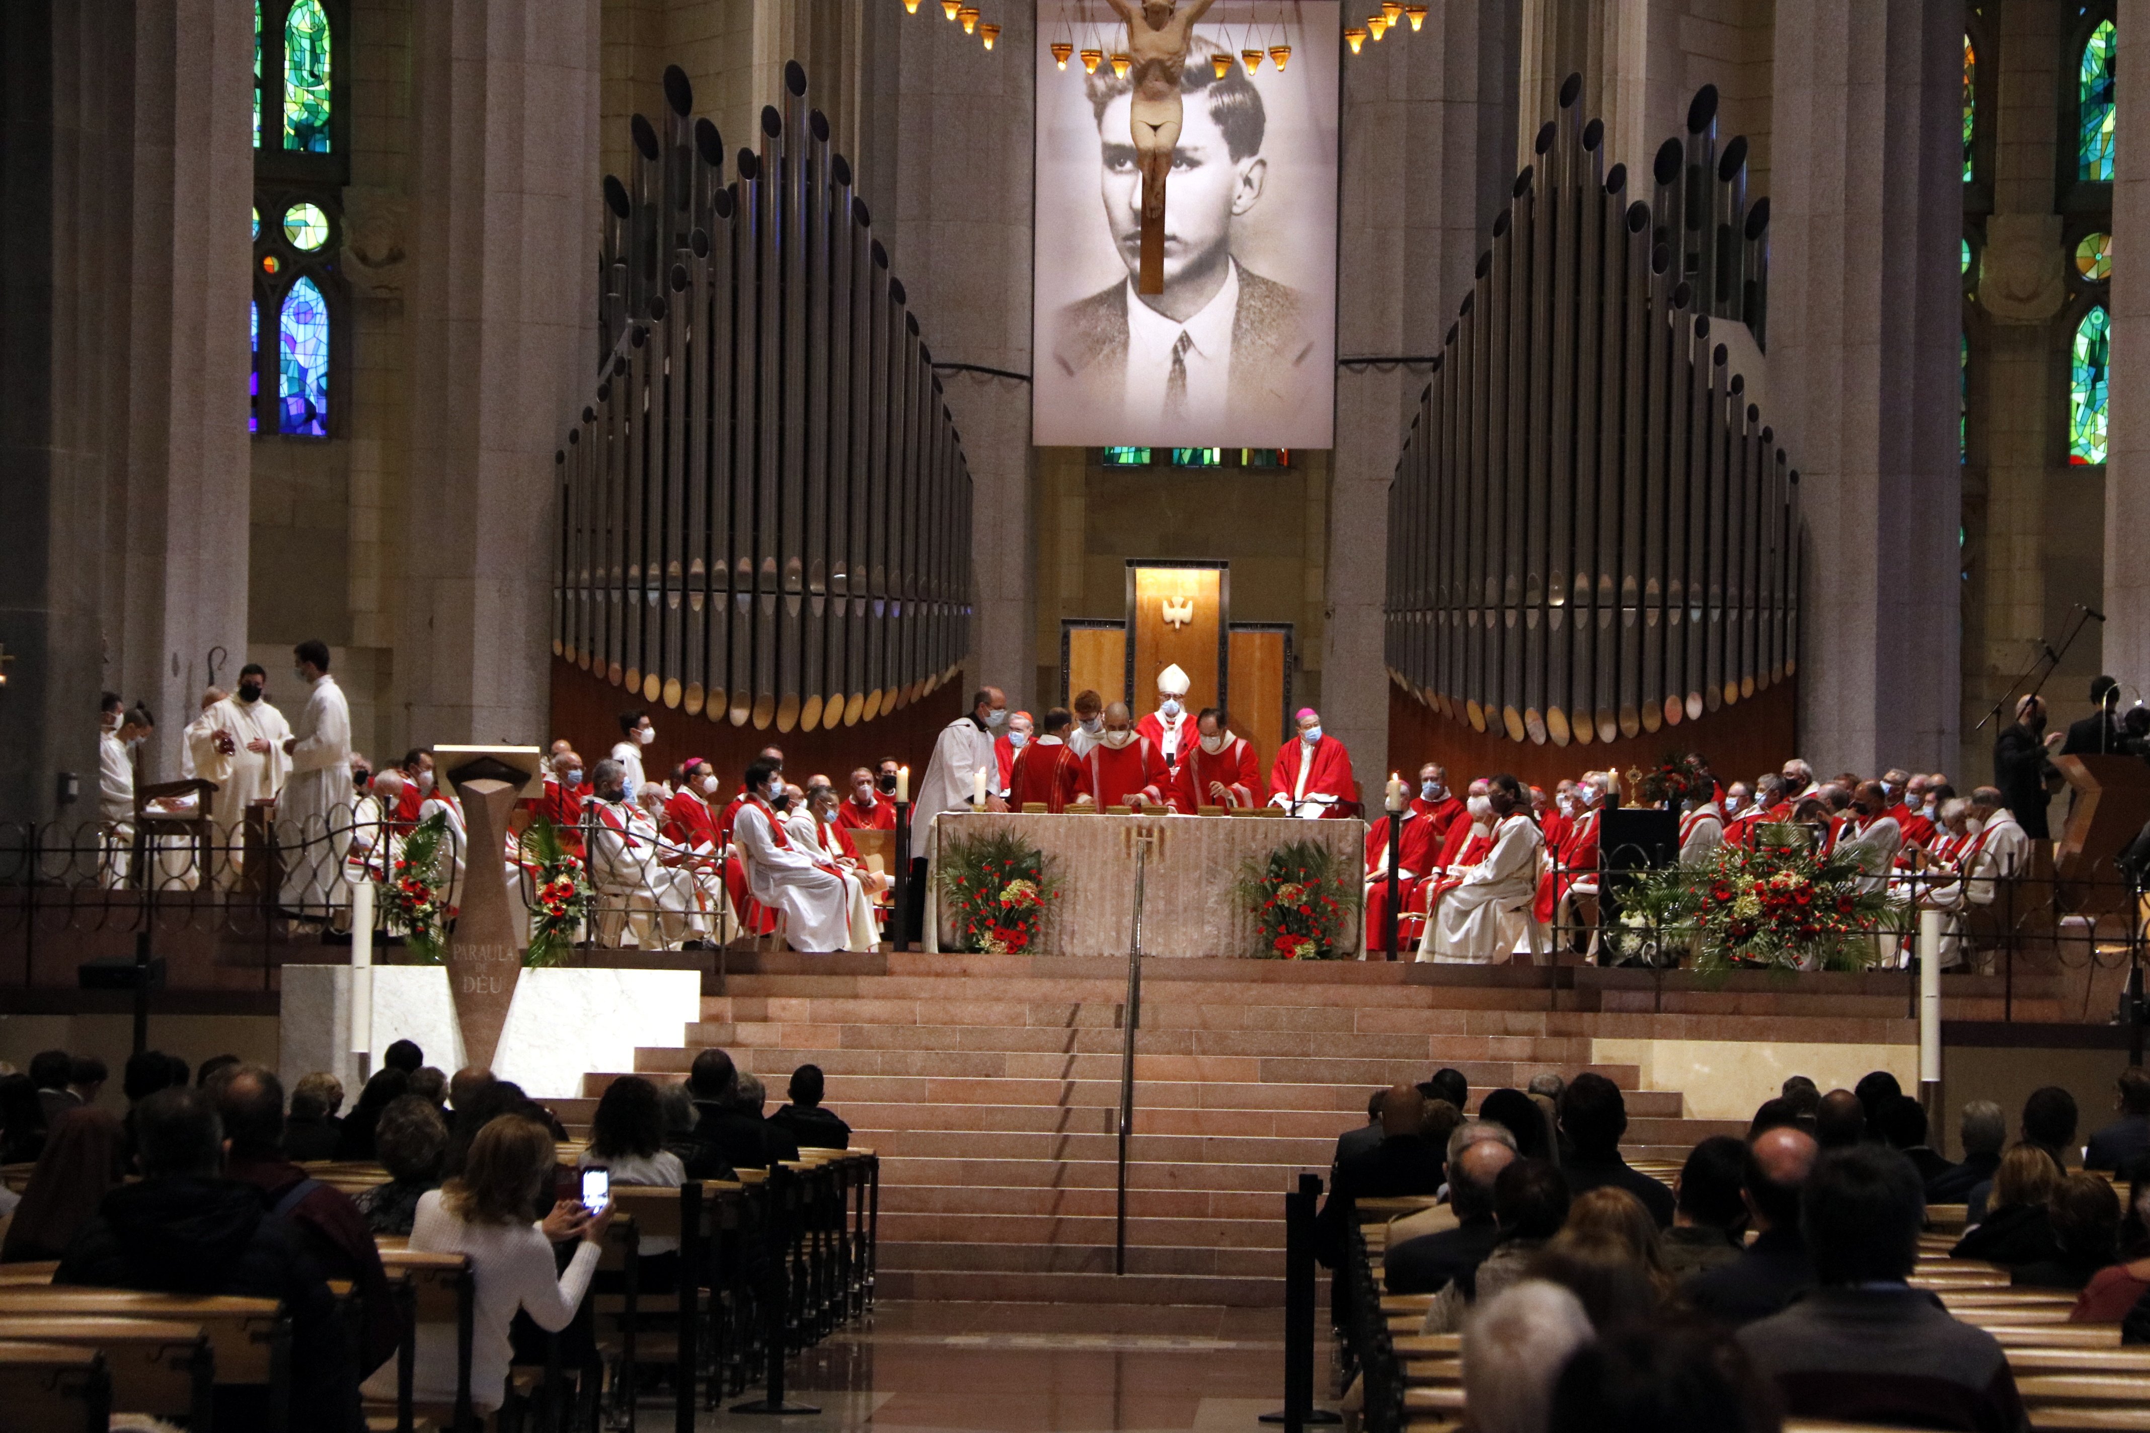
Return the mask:
<path fill-rule="evenodd" d="M 471 1405 L 490 1414 L 507 1390 L 516 1311 L 546 1332 L 559 1332 L 598 1270 L 613 1205 L 591 1214 L 574 1199 L 553 1203 L 557 1149 L 535 1119 L 501 1115 L 477 1132 L 462 1173 L 421 1195 L 411 1227 L 411 1248 L 469 1255 L 477 1285 L 471 1332 Z M 550 1214 L 538 1218 L 540 1207 Z M 555 1272 L 553 1244 L 580 1240 L 565 1270 Z M 426 1403 L 456 1396 L 456 1328 L 419 1323 L 413 1392 Z M 396 1366 L 385 1364 L 366 1384 L 374 1399 L 396 1396 Z"/>

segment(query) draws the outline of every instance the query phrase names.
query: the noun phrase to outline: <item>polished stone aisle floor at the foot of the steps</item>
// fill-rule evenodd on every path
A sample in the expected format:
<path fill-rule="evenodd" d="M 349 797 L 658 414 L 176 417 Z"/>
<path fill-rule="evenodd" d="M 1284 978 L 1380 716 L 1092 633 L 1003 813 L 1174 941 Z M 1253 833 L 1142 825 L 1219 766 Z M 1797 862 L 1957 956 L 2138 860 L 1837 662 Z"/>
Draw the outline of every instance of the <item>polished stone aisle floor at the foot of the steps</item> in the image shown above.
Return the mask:
<path fill-rule="evenodd" d="M 705 1414 L 772 1433 L 1258 1433 L 1284 1399 L 1284 1315 L 1144 1304 L 899 1304 L 793 1360 L 815 1416 Z M 1316 1349 L 1324 1388 L 1329 1347 Z M 649 1420 L 651 1405 L 643 1405 Z M 666 1409 L 669 1412 L 669 1409 Z"/>

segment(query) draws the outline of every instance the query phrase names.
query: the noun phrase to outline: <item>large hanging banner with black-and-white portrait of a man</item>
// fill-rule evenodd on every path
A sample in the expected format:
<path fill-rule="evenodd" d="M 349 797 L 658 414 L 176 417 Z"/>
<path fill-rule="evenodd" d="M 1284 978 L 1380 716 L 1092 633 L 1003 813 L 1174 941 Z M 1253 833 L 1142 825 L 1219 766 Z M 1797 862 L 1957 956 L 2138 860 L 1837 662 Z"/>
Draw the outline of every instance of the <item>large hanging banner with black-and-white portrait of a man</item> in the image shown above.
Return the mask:
<path fill-rule="evenodd" d="M 1094 73 L 1084 49 L 1105 56 Z M 1131 77 L 1109 60 L 1124 49 L 1105 0 L 1038 2 L 1032 443 L 1331 447 L 1335 0 L 1219 0 L 1195 26 L 1163 294 L 1135 292 L 1142 174 Z"/>

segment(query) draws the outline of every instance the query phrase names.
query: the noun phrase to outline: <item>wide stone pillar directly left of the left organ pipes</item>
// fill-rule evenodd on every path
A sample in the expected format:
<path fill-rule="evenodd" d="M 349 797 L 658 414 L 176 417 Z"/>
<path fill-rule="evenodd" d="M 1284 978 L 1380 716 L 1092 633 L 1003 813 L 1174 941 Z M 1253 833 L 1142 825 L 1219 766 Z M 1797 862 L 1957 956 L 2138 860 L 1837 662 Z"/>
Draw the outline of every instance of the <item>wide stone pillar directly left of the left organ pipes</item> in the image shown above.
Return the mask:
<path fill-rule="evenodd" d="M 596 387 L 598 0 L 413 11 L 411 739 L 544 743 L 553 453 Z"/>

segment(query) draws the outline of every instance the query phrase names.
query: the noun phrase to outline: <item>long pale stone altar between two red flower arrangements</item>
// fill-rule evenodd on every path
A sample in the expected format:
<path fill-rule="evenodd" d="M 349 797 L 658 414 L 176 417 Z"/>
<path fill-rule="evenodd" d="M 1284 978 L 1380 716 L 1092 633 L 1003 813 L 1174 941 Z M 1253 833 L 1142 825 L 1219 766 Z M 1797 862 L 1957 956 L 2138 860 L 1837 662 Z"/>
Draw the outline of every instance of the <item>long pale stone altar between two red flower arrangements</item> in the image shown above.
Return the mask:
<path fill-rule="evenodd" d="M 1260 932 L 1232 892 L 1249 857 L 1294 840 L 1331 849 L 1346 870 L 1365 862 L 1365 821 L 1294 821 L 1288 816 L 1047 816 L 955 812 L 933 823 L 931 862 L 948 842 L 989 831 L 1015 831 L 1051 862 L 1060 900 L 1045 926 L 1047 956 L 1124 956 L 1135 909 L 1135 849 L 1155 834 L 1144 872 L 1142 954 L 1253 956 Z M 1359 954 L 1363 928 L 1350 922 L 1344 950 Z M 929 950 L 955 947 L 955 930 L 927 926 Z"/>

